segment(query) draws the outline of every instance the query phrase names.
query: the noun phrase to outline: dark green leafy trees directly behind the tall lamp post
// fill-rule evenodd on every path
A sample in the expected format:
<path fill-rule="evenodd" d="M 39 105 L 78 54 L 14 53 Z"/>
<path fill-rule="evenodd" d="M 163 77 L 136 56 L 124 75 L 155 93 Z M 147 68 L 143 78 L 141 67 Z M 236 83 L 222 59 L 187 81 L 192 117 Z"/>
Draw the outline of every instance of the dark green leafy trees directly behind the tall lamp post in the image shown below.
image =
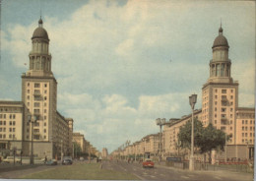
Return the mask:
<path fill-rule="evenodd" d="M 191 149 L 191 121 L 188 121 L 180 128 L 178 139 L 181 141 L 181 148 Z M 229 136 L 226 137 L 229 139 Z M 194 146 L 201 153 L 209 153 L 211 162 L 211 154 L 213 150 L 221 149 L 224 151 L 225 133 L 222 130 L 216 129 L 211 123 L 204 128 L 201 121 L 194 120 Z"/>

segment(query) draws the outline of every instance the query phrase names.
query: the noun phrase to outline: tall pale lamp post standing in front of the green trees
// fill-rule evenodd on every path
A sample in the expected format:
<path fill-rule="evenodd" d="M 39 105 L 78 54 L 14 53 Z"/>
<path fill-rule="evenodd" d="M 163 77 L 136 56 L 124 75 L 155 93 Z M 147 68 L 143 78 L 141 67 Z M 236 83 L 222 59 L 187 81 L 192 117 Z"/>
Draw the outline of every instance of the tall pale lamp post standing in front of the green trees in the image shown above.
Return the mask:
<path fill-rule="evenodd" d="M 192 128 L 191 128 L 191 153 L 189 160 L 189 170 L 195 169 L 195 160 L 194 160 L 194 107 L 197 102 L 197 94 L 192 94 L 189 96 L 189 104 L 192 109 Z"/>

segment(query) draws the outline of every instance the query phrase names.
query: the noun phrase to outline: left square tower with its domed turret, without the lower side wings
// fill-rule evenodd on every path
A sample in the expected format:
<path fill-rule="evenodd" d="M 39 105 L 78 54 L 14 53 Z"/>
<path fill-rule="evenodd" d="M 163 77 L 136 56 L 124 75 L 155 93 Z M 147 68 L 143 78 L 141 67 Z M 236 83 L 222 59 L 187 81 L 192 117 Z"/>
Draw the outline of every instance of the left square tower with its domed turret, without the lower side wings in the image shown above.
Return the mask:
<path fill-rule="evenodd" d="M 57 82 L 51 72 L 48 33 L 42 24 L 40 19 L 38 27 L 32 33 L 30 68 L 22 75 L 22 100 L 26 106 L 23 124 L 24 152 L 30 154 L 30 141 L 33 138 L 34 153 L 39 155 L 44 152 L 52 157 L 52 138 L 56 134 L 54 121 L 57 119 Z M 36 123 L 31 124 L 30 117 Z"/>

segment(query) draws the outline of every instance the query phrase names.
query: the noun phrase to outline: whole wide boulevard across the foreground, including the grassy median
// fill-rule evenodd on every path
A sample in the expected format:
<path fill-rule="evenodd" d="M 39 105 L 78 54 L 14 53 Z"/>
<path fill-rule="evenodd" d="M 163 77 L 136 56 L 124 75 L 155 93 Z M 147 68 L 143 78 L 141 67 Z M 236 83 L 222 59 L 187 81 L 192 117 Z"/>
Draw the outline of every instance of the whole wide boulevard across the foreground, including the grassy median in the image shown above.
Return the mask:
<path fill-rule="evenodd" d="M 230 171 L 189 171 L 156 163 L 143 168 L 141 163 L 127 161 L 74 161 L 72 165 L 23 166 L 23 169 L 0 170 L 0 178 L 69 179 L 69 180 L 170 180 L 170 181 L 252 181 L 252 173 Z"/>

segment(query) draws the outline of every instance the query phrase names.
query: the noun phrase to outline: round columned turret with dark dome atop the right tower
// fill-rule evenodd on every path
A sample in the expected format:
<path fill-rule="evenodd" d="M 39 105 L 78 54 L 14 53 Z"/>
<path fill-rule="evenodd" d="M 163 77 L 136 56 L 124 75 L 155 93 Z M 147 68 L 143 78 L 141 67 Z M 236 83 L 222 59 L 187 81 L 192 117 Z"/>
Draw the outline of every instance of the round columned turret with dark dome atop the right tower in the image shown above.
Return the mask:
<path fill-rule="evenodd" d="M 228 42 L 223 34 L 223 28 L 219 29 L 219 35 L 213 44 L 213 60 L 210 62 L 209 82 L 231 83 L 230 77 L 231 61 L 228 59 Z"/>

